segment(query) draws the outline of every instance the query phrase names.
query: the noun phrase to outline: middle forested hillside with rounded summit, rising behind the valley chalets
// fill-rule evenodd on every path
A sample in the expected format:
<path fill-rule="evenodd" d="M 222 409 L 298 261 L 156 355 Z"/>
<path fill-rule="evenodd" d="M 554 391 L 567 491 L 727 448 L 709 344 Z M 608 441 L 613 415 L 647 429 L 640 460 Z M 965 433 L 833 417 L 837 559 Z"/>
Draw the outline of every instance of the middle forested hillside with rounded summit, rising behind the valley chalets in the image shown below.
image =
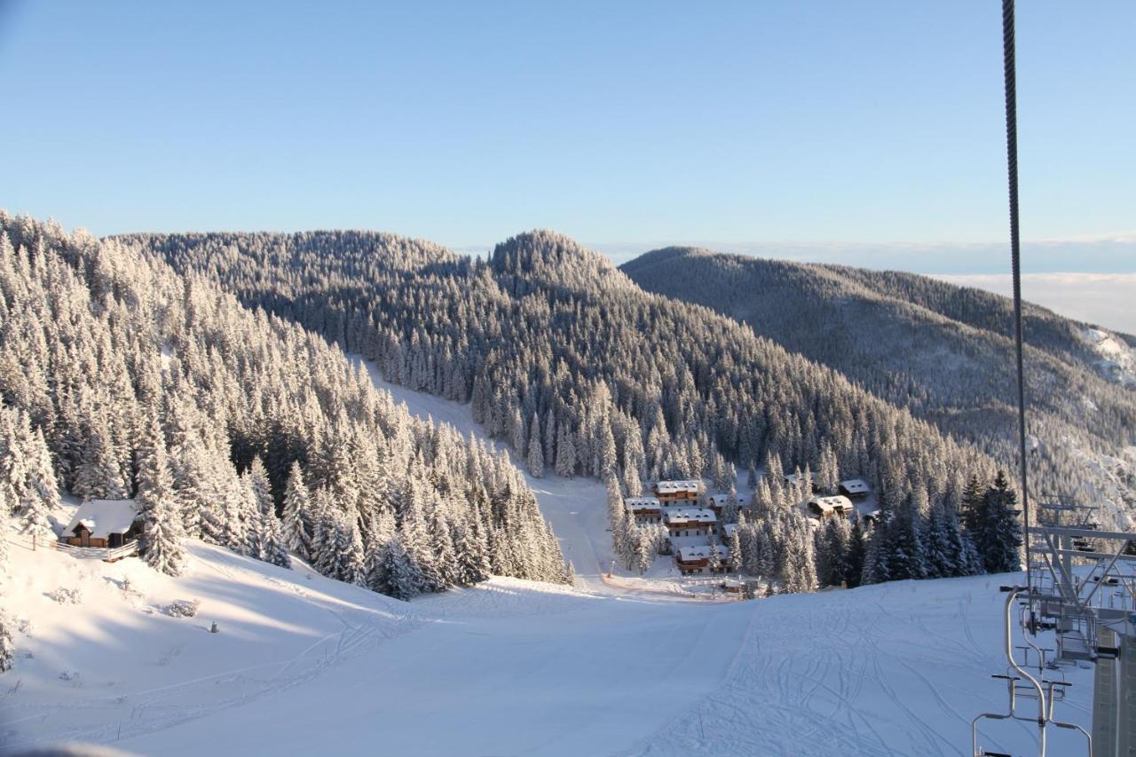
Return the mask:
<path fill-rule="evenodd" d="M 374 358 L 391 381 L 473 402 L 537 473 L 610 473 L 637 492 L 644 479 L 728 480 L 730 466 L 776 458 L 868 479 L 891 507 L 952 514 L 968 476 L 993 473 L 837 372 L 649 294 L 552 232 L 510 239 L 487 263 L 364 232 L 119 241 Z"/>

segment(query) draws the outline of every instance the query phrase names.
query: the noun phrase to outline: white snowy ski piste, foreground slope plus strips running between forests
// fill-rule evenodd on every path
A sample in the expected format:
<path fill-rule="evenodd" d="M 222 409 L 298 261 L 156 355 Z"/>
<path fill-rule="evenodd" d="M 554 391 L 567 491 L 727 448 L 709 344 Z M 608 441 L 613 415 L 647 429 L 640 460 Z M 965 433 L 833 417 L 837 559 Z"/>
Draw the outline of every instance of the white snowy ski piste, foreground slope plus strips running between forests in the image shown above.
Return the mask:
<path fill-rule="evenodd" d="M 479 433 L 466 406 L 376 382 Z M 492 579 L 401 602 L 201 542 L 170 579 L 10 535 L 0 752 L 967 755 L 970 719 L 1005 709 L 989 675 L 1006 667 L 999 587 L 1018 575 L 708 600 L 662 559 L 607 577 L 599 483 L 529 483 L 575 588 Z M 197 614 L 169 615 L 175 600 Z M 1087 725 L 1091 671 L 1047 675 L 1075 684 L 1059 715 Z M 1035 732 L 1003 722 L 980 743 L 1029 754 Z M 1078 738 L 1051 731 L 1050 754 L 1083 754 Z"/>

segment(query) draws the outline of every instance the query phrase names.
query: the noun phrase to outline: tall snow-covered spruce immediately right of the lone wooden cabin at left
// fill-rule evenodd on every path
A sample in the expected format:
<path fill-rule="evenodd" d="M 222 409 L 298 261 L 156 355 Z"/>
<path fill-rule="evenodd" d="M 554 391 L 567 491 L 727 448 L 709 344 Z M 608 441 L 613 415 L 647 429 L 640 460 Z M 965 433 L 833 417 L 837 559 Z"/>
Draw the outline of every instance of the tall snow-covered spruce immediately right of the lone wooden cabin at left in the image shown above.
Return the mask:
<path fill-rule="evenodd" d="M 147 424 L 147 456 L 139 467 L 135 494 L 142 518 L 140 547 L 147 565 L 166 575 L 181 575 L 185 565 L 182 516 L 169 472 L 166 438 L 152 416 Z"/>

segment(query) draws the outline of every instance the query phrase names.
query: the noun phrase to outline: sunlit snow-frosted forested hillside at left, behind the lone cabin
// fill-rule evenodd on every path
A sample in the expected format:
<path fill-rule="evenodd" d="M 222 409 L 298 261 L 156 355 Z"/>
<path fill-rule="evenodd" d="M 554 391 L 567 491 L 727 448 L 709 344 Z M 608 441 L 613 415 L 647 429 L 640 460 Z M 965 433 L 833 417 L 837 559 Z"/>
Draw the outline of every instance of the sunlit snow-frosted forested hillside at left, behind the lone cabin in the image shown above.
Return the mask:
<path fill-rule="evenodd" d="M 0 211 L 0 516 L 50 533 L 56 483 L 135 497 L 143 556 L 183 534 L 410 597 L 565 581 L 504 452 L 411 418 L 362 368 L 208 276 Z"/>

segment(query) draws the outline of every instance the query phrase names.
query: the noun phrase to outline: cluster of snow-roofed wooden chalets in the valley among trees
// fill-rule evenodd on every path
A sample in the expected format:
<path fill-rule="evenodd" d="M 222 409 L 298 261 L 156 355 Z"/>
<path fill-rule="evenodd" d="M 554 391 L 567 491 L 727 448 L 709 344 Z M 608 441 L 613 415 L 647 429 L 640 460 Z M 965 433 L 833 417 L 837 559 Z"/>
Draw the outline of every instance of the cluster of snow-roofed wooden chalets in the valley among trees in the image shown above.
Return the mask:
<path fill-rule="evenodd" d="M 795 484 L 796 476 L 785 476 Z M 651 496 L 626 497 L 624 507 L 635 525 L 661 524 L 667 527 L 667 547 L 684 575 L 725 573 L 729 565 L 729 543 L 737 531 L 737 502 L 730 507 L 729 494 L 710 494 L 698 480 L 658 481 Z M 867 500 L 871 489 L 859 479 L 840 482 L 837 494 L 813 496 L 802 507 L 815 526 L 832 517 L 853 517 L 853 500 Z M 875 511 L 861 514 L 875 519 Z"/>

